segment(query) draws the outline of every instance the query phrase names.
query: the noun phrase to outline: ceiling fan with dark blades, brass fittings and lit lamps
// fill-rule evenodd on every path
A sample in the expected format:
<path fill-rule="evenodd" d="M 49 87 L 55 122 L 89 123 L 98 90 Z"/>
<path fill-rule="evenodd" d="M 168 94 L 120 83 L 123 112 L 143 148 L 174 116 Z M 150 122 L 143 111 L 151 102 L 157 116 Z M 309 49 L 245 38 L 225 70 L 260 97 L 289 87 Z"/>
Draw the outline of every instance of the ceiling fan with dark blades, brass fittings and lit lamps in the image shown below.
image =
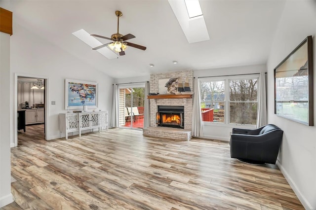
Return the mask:
<path fill-rule="evenodd" d="M 119 23 L 119 17 L 122 16 L 122 13 L 120 11 L 115 11 L 115 15 L 118 17 L 118 23 Z M 141 49 L 141 50 L 146 50 L 146 47 L 144 47 L 144 46 L 130 43 L 130 42 L 126 41 L 128 39 L 135 38 L 135 36 L 131 35 L 131 34 L 121 35 L 117 32 L 116 34 L 111 35 L 111 38 L 105 37 L 102 35 L 92 35 L 92 36 L 112 40 L 112 42 L 102 44 L 98 47 L 92 48 L 93 50 L 97 50 L 97 49 L 100 49 L 102 47 L 109 46 L 112 50 L 114 50 L 115 52 L 118 52 L 119 55 L 125 55 L 124 51 L 127 48 L 127 46 L 135 47 L 135 48 Z"/>

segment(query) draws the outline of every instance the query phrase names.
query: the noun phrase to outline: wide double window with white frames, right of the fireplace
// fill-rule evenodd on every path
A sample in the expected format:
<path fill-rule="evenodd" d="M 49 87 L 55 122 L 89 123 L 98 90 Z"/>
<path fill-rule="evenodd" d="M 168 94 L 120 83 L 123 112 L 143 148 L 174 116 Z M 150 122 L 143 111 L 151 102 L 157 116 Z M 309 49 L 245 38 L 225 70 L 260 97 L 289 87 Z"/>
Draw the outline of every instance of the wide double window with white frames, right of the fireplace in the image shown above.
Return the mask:
<path fill-rule="evenodd" d="M 200 79 L 202 121 L 255 125 L 258 76 Z"/>

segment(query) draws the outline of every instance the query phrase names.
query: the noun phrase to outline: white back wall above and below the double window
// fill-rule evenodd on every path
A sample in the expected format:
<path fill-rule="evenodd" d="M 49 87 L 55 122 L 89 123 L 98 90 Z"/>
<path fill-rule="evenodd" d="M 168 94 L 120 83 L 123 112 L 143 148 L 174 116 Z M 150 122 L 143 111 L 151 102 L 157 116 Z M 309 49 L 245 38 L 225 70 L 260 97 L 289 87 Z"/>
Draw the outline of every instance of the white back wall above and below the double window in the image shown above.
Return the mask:
<path fill-rule="evenodd" d="M 221 69 L 210 69 L 210 70 L 194 70 L 195 77 L 204 76 L 225 76 L 235 74 L 248 74 L 248 73 L 260 73 L 266 71 L 266 65 L 252 65 L 242 67 L 229 67 Z M 209 123 L 203 122 L 203 138 L 214 139 L 214 140 L 230 140 L 230 132 L 232 128 L 255 128 L 255 126 L 243 126 L 243 125 L 229 125 L 222 123 Z"/>

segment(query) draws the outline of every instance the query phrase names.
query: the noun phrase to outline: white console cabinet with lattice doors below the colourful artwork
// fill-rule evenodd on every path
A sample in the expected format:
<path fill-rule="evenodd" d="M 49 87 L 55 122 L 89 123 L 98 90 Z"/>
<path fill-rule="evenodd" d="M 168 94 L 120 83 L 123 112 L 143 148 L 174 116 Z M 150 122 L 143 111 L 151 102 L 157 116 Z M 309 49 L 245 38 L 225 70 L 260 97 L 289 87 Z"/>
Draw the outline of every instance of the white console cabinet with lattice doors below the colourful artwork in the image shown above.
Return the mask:
<path fill-rule="evenodd" d="M 60 113 L 59 114 L 59 132 L 60 137 L 68 139 L 68 133 L 99 129 L 99 133 L 103 129 L 108 130 L 108 111 L 91 111 L 80 113 Z"/>

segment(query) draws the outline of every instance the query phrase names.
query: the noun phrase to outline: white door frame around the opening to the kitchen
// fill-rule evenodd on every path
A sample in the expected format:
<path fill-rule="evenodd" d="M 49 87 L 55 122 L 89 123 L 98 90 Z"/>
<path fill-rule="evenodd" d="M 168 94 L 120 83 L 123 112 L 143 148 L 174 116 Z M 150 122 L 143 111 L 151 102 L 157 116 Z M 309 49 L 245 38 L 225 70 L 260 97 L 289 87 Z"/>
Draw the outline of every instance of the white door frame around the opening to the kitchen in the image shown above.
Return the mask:
<path fill-rule="evenodd" d="M 31 78 L 41 78 L 44 79 L 45 82 L 45 140 L 47 140 L 48 137 L 48 102 L 49 102 L 49 94 L 48 94 L 48 89 L 49 89 L 49 79 L 47 76 L 43 75 L 34 75 L 34 74 L 27 74 L 27 73 L 14 73 L 14 143 L 11 143 L 11 147 L 17 146 L 18 145 L 18 76 L 23 76 L 23 77 L 31 77 Z"/>

